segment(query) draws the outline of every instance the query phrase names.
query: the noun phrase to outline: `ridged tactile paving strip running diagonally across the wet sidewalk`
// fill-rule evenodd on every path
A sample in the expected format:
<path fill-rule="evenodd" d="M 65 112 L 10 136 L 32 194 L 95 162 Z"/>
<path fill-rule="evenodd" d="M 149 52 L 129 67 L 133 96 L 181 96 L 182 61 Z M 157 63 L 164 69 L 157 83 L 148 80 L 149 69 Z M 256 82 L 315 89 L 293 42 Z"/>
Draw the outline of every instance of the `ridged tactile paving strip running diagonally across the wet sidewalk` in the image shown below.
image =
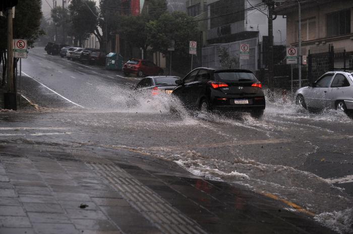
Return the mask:
<path fill-rule="evenodd" d="M 164 233 L 207 233 L 190 218 L 116 165 L 87 164 L 107 179 L 120 195 Z"/>

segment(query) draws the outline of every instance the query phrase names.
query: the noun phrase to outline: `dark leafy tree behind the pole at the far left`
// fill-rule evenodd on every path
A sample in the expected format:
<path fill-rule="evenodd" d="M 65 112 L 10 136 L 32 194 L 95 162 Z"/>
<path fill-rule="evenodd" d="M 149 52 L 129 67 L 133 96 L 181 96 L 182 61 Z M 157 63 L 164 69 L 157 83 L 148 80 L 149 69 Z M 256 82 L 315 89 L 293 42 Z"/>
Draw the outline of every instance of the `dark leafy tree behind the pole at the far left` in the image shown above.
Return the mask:
<path fill-rule="evenodd" d="M 14 34 L 13 38 L 26 39 L 28 46 L 32 47 L 34 41 L 44 31 L 40 28 L 40 20 L 42 18 L 41 0 L 21 0 L 18 1 L 15 10 L 14 19 Z M 3 81 L 2 86 L 5 85 L 6 76 L 6 50 L 7 50 L 7 20 L 0 17 L 0 57 L 3 58 Z M 15 68 L 15 66 L 14 66 Z"/>

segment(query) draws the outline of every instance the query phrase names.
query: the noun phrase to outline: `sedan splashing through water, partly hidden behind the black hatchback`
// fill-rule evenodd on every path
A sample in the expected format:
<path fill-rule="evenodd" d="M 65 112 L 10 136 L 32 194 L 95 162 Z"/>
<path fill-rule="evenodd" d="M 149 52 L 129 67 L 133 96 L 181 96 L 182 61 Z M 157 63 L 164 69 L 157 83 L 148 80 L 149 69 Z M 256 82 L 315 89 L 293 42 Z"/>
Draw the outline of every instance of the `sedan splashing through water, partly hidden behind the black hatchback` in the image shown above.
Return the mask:
<path fill-rule="evenodd" d="M 179 80 L 179 76 L 147 76 L 142 79 L 136 87 L 134 87 L 134 92 L 129 96 L 128 106 L 137 105 L 137 98 L 143 93 L 150 92 L 150 98 L 156 95 L 167 94 L 170 95 L 172 90 L 177 87 L 175 81 Z"/>

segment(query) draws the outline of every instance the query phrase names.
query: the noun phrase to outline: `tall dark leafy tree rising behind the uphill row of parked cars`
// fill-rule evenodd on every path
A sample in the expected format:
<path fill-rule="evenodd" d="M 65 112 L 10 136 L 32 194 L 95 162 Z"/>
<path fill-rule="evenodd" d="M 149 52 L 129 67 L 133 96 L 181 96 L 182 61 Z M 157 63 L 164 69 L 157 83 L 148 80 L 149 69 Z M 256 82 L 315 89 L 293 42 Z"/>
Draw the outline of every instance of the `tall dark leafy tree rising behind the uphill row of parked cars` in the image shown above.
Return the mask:
<path fill-rule="evenodd" d="M 69 33 L 75 37 L 81 47 L 83 40 L 98 31 L 98 9 L 92 0 L 72 0 L 69 14 L 71 19 Z"/>

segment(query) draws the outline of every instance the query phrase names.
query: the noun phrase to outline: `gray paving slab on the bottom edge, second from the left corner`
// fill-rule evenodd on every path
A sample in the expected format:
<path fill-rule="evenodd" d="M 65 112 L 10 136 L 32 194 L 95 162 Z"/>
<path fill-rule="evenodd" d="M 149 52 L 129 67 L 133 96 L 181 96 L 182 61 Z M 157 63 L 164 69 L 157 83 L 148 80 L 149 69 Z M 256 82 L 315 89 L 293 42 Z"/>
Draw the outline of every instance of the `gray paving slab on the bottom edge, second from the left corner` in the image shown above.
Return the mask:
<path fill-rule="evenodd" d="M 37 234 L 80 234 L 79 230 L 70 223 L 33 223 Z"/>

